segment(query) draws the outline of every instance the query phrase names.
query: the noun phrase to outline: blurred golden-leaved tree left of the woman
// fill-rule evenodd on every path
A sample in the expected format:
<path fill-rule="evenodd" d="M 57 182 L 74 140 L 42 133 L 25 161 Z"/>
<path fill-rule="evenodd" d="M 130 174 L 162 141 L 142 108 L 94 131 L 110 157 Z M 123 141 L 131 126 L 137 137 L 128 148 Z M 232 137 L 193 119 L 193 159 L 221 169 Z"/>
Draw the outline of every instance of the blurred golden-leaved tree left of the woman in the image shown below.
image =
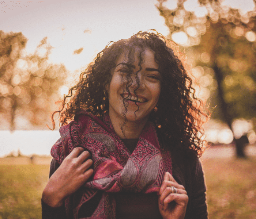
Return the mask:
<path fill-rule="evenodd" d="M 27 39 L 21 32 L 0 31 L 0 39 L 0 112 L 7 116 L 11 131 L 17 116 L 32 125 L 45 124 L 64 83 L 65 66 L 49 63 L 52 47 L 47 38 L 29 55 L 25 55 Z"/>

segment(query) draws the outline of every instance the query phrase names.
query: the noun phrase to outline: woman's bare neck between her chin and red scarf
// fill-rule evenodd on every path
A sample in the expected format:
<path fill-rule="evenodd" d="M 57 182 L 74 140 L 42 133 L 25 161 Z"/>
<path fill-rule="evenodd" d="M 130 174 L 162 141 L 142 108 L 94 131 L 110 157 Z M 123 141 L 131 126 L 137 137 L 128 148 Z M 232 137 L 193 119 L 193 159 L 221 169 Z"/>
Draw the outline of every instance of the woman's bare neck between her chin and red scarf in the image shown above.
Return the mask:
<path fill-rule="evenodd" d="M 109 118 L 113 125 L 114 131 L 121 139 L 124 138 L 139 138 L 140 134 L 147 123 L 147 119 L 135 120 L 135 121 L 127 121 L 127 123 L 123 126 L 125 120 L 124 118 L 117 118 L 111 112 L 109 113 Z M 122 128 L 123 126 L 123 128 Z M 122 131 L 123 129 L 123 131 Z"/>

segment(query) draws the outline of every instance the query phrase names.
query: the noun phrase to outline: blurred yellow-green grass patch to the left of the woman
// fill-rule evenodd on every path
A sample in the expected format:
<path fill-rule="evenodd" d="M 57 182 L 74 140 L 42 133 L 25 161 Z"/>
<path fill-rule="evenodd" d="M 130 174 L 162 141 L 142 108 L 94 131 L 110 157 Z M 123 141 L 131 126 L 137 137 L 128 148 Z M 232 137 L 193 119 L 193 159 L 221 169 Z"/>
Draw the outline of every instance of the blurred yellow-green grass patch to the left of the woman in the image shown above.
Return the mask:
<path fill-rule="evenodd" d="M 0 165 L 0 219 L 41 218 L 49 165 Z"/>

